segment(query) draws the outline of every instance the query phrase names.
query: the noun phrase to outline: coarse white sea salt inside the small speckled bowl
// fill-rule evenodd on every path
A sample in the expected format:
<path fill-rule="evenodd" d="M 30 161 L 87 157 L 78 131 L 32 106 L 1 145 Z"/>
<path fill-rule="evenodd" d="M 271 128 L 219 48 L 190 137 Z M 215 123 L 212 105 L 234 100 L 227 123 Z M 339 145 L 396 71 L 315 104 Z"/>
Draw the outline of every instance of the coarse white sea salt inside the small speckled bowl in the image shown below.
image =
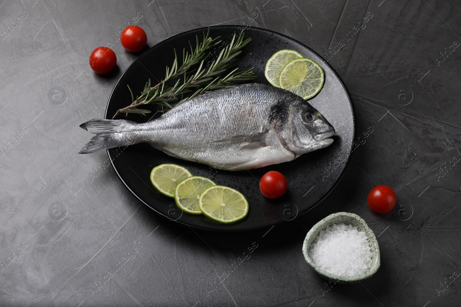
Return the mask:
<path fill-rule="evenodd" d="M 309 256 L 322 270 L 339 276 L 357 276 L 372 264 L 365 232 L 343 223 L 327 227 L 311 244 Z"/>

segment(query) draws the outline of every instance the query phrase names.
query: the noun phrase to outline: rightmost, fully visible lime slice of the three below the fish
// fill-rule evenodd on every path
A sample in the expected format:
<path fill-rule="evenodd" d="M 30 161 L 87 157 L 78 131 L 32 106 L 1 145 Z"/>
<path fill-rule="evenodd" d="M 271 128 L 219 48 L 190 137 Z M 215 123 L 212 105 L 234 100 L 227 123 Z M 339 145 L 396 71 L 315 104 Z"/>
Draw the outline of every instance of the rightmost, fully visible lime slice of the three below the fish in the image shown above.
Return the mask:
<path fill-rule="evenodd" d="M 200 195 L 200 211 L 219 223 L 231 224 L 248 214 L 247 199 L 228 186 L 213 185 Z"/>

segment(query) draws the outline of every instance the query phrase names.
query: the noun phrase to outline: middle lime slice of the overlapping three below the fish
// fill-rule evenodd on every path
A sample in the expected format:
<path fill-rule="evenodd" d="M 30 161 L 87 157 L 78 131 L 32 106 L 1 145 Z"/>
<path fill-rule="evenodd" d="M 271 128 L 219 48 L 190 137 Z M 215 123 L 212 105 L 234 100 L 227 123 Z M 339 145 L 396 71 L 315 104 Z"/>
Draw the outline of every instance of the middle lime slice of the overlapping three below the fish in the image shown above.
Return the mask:
<path fill-rule="evenodd" d="M 212 180 L 201 176 L 191 176 L 176 185 L 174 200 L 179 208 L 190 214 L 202 214 L 199 208 L 200 194 L 210 186 Z"/>

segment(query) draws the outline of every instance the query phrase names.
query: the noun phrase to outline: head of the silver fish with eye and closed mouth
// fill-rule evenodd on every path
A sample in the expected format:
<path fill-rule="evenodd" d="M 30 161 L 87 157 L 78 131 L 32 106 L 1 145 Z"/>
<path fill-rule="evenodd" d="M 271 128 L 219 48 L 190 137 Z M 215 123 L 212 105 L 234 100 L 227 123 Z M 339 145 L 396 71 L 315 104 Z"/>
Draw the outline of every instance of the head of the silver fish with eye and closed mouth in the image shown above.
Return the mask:
<path fill-rule="evenodd" d="M 290 95 L 288 100 L 287 103 L 285 99 L 284 120 L 276 125 L 278 138 L 286 149 L 299 156 L 333 143 L 335 128 L 318 110 L 298 95 Z"/>

